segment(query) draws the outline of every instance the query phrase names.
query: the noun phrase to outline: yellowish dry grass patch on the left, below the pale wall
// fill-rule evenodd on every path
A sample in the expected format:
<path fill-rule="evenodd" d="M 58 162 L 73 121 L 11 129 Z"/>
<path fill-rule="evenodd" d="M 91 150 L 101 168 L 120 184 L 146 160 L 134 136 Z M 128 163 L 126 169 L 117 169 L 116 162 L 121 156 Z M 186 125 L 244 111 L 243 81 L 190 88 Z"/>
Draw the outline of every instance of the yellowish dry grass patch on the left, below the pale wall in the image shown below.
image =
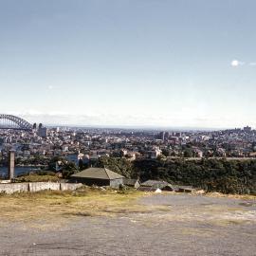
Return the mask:
<path fill-rule="evenodd" d="M 72 216 L 114 216 L 145 212 L 150 208 L 137 205 L 142 192 L 100 191 L 82 188 L 76 192 L 26 192 L 0 196 L 0 217 L 17 221 L 69 218 Z"/>

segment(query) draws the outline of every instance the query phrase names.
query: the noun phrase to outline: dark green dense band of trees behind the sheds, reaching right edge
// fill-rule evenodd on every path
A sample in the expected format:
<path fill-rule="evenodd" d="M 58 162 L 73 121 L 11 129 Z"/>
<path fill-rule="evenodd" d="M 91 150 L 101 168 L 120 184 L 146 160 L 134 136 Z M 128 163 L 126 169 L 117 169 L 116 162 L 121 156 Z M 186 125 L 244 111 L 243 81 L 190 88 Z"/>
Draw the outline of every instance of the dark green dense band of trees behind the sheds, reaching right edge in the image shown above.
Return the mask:
<path fill-rule="evenodd" d="M 174 160 L 101 157 L 105 166 L 126 177 L 166 180 L 207 192 L 256 194 L 256 160 L 201 159 Z"/>

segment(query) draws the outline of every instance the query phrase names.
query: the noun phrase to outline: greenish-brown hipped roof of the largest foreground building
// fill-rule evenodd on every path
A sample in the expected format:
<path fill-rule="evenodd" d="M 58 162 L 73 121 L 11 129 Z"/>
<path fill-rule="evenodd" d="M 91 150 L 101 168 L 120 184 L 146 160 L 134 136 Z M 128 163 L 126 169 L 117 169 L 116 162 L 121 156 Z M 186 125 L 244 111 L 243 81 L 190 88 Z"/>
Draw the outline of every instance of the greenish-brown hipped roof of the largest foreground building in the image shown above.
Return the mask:
<path fill-rule="evenodd" d="M 122 175 L 112 172 L 106 168 L 88 168 L 80 173 L 73 174 L 71 177 L 98 178 L 98 179 L 118 179 L 123 178 Z"/>

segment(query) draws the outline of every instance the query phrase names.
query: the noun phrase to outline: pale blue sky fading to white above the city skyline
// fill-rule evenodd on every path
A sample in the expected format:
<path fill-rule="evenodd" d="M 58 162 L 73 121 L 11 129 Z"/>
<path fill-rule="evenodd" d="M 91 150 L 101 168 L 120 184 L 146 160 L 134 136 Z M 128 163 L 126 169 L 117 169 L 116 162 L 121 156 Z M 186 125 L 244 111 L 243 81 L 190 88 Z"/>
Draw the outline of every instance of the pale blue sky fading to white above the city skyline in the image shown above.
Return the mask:
<path fill-rule="evenodd" d="M 0 113 L 256 127 L 254 0 L 0 0 Z"/>

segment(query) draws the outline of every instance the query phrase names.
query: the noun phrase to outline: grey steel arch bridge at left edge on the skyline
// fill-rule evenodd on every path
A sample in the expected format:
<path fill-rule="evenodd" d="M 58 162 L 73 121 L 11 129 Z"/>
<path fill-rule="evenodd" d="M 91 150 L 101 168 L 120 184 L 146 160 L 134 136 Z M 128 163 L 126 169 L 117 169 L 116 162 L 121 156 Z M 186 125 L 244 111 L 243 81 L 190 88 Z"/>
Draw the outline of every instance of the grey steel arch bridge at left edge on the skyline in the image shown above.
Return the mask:
<path fill-rule="evenodd" d="M 0 129 L 32 131 L 33 125 L 25 119 L 12 115 L 0 114 Z"/>

